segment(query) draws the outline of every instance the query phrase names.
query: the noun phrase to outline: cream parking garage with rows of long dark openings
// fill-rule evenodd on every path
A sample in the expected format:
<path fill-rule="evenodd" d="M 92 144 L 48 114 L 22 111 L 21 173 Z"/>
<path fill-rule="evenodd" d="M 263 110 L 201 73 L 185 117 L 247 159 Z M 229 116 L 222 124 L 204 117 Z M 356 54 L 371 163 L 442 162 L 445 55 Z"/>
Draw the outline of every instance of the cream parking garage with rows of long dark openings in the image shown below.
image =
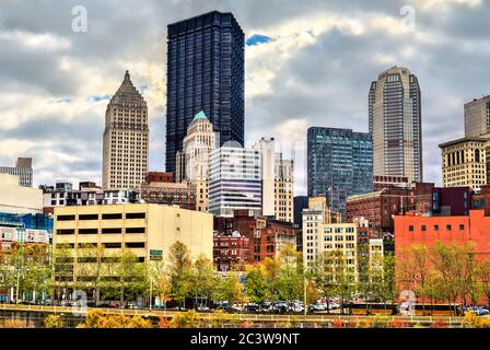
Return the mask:
<path fill-rule="evenodd" d="M 54 250 L 67 248 L 75 258 L 91 245 L 110 252 L 127 248 L 140 261 L 150 261 L 155 250 L 167 260 L 170 247 L 182 242 L 192 258 L 203 254 L 212 259 L 213 219 L 208 213 L 136 203 L 57 207 L 54 219 Z M 77 271 L 77 260 L 74 265 Z"/>

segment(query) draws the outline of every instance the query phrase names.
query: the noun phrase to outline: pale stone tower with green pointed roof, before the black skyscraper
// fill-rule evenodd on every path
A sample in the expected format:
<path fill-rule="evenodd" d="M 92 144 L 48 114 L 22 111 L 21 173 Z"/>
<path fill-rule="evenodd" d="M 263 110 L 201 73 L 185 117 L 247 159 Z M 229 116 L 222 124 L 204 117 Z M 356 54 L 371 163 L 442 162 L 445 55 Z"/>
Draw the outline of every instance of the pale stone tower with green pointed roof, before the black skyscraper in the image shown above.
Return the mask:
<path fill-rule="evenodd" d="M 219 136 L 213 131 L 212 124 L 201 110 L 189 124 L 187 136 L 183 141 L 183 151 L 177 152 L 175 180 L 195 183 L 209 177 L 209 154 L 217 147 Z M 219 142 L 219 141 L 218 141 Z"/>

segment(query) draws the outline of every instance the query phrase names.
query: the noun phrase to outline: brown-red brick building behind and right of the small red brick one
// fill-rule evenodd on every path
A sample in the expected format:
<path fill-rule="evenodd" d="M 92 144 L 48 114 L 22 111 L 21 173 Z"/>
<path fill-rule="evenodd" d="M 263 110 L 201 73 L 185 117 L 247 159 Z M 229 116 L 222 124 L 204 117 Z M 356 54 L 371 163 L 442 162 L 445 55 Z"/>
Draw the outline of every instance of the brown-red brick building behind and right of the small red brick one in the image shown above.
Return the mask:
<path fill-rule="evenodd" d="M 290 222 L 254 217 L 248 210 L 236 210 L 233 218 L 214 218 L 214 231 L 231 235 L 240 232 L 249 238 L 249 261 L 262 261 L 275 257 L 285 244 L 296 247 L 299 229 Z"/>

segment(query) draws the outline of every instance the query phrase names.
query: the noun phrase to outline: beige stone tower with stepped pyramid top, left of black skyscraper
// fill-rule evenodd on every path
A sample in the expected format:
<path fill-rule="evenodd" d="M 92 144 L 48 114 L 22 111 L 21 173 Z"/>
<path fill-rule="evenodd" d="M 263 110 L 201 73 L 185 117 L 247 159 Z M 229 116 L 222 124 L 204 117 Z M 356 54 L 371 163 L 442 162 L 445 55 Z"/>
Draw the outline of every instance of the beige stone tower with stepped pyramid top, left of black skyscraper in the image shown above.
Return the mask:
<path fill-rule="evenodd" d="M 148 148 L 147 102 L 126 71 L 105 113 L 102 187 L 139 188 L 148 172 Z"/>

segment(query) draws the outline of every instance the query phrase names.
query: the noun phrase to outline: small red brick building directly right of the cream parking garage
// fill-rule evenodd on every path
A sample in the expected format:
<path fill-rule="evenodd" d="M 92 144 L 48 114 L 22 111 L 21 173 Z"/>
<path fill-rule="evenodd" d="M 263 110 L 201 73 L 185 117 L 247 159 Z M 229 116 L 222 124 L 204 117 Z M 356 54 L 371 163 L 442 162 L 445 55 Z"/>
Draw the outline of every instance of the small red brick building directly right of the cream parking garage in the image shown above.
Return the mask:
<path fill-rule="evenodd" d="M 230 235 L 214 235 L 213 260 L 218 271 L 243 271 L 250 256 L 249 238 L 234 233 Z"/>

